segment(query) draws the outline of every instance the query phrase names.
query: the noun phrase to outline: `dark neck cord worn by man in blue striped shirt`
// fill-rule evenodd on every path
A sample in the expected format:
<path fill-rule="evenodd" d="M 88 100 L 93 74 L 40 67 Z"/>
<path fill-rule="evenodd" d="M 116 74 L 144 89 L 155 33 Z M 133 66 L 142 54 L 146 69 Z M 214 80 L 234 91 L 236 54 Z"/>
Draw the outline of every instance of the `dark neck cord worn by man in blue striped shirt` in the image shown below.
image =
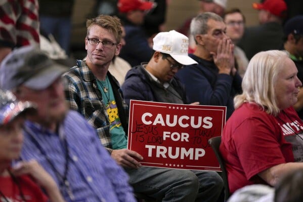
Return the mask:
<path fill-rule="evenodd" d="M 45 156 L 45 158 L 48 161 L 49 165 L 51 166 L 52 170 L 56 174 L 57 178 L 60 180 L 60 187 L 66 186 L 67 188 L 69 188 L 69 184 L 68 184 L 68 181 L 67 181 L 67 173 L 68 173 L 68 169 L 69 169 L 70 156 L 69 156 L 69 148 L 68 148 L 66 137 L 63 136 L 63 143 L 64 143 L 64 148 L 65 148 L 65 169 L 64 169 L 63 175 L 61 175 L 60 172 L 55 168 L 52 160 L 49 158 L 46 151 L 41 147 L 41 145 L 35 139 L 32 132 L 27 130 L 26 128 L 24 128 L 24 130 L 30 135 L 30 139 L 35 144 L 35 146 L 40 150 L 42 155 Z"/>

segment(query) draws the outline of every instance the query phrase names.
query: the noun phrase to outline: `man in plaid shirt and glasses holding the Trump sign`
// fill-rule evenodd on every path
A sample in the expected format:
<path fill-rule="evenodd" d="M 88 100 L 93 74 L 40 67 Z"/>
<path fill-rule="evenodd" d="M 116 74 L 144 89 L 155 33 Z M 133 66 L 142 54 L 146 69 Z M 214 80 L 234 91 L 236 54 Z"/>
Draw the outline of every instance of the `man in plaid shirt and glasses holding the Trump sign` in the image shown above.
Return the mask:
<path fill-rule="evenodd" d="M 86 61 L 80 61 L 64 75 L 69 106 L 96 128 L 101 143 L 127 172 L 136 193 L 158 201 L 217 201 L 223 189 L 223 180 L 217 173 L 196 175 L 189 170 L 142 167 L 142 155 L 126 149 L 128 107 L 119 85 L 108 72 L 112 57 L 119 53 L 121 25 L 110 16 L 98 16 L 88 22 Z M 187 48 L 183 51 L 186 53 Z M 186 55 L 181 58 L 188 59 Z"/>

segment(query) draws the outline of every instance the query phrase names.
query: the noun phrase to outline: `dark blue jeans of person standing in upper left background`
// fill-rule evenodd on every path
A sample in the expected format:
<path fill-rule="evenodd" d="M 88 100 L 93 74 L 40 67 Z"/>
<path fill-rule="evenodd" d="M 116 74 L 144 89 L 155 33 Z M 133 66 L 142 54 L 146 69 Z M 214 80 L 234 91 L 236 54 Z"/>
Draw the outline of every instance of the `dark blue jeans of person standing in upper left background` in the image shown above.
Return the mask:
<path fill-rule="evenodd" d="M 70 17 L 39 16 L 40 29 L 52 34 L 66 54 L 69 54 L 71 19 Z"/>

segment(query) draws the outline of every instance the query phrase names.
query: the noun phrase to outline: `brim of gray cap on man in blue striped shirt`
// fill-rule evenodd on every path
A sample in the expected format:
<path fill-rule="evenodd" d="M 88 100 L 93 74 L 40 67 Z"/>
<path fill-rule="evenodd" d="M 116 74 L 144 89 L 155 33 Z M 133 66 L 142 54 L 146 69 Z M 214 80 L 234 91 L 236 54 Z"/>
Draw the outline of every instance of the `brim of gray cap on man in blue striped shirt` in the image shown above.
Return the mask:
<path fill-rule="evenodd" d="M 43 90 L 48 88 L 58 77 L 68 69 L 60 64 L 52 64 L 28 79 L 23 85 L 34 90 Z"/>

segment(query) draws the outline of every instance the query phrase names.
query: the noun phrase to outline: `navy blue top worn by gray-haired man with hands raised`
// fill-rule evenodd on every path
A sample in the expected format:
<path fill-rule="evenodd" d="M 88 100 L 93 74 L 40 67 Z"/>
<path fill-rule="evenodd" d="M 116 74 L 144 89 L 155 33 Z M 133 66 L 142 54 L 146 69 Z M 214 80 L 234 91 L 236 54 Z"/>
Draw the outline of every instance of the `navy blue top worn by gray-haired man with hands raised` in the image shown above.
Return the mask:
<path fill-rule="evenodd" d="M 201 105 L 226 106 L 226 118 L 233 113 L 234 97 L 242 92 L 241 76 L 219 74 L 219 69 L 213 61 L 203 60 L 193 54 L 189 55 L 198 64 L 187 65 L 177 72 L 177 77 L 185 85 L 190 102 L 200 102 Z"/>

